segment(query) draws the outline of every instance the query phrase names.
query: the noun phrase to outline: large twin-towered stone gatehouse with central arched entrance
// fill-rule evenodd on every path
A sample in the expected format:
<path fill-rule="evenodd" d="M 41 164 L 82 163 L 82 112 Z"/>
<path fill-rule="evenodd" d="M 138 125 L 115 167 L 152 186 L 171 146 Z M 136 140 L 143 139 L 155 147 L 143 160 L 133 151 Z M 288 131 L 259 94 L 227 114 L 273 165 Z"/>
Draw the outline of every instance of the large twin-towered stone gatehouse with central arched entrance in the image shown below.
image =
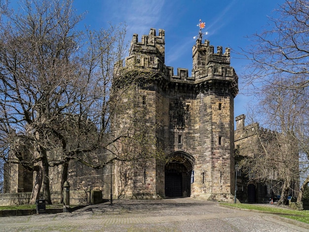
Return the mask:
<path fill-rule="evenodd" d="M 230 49 L 202 43 L 193 46 L 192 77 L 188 69 L 172 67 L 164 60 L 165 32 L 151 29 L 138 41 L 134 34 L 126 68 L 154 73 L 145 86 L 137 86 L 136 107 L 153 112 L 149 131 L 163 146 L 166 163 L 148 162 L 127 193 L 145 197 L 191 196 L 231 201 L 234 191 L 233 104 L 238 77 L 230 66 Z"/>

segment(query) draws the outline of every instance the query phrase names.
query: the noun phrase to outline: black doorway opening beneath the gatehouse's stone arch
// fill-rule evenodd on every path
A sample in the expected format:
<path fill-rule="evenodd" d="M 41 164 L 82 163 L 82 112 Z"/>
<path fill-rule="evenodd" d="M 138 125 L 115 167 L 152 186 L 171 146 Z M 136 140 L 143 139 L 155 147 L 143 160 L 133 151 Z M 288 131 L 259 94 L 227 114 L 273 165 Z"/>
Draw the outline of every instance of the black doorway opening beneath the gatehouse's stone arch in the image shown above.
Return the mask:
<path fill-rule="evenodd" d="M 190 169 L 191 165 L 189 166 Z M 192 167 L 191 167 L 192 170 Z M 177 161 L 165 165 L 165 196 L 190 196 L 191 170 Z"/>

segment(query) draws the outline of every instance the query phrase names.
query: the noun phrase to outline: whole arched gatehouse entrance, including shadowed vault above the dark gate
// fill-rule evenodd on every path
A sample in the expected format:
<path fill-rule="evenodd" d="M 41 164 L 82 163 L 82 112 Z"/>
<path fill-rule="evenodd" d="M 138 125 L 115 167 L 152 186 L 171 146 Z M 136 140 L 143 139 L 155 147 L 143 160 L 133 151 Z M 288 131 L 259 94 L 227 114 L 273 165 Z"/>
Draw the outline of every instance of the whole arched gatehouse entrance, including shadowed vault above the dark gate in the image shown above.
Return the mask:
<path fill-rule="evenodd" d="M 178 152 L 170 155 L 165 165 L 165 196 L 182 197 L 191 194 L 193 156 Z"/>

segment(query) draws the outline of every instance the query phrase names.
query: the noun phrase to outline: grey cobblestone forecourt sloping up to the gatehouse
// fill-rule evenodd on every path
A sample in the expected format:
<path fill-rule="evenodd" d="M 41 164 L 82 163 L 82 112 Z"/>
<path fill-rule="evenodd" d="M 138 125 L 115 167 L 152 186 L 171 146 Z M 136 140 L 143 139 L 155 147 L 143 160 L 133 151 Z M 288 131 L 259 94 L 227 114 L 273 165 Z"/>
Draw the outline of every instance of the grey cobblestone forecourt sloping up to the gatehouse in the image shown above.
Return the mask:
<path fill-rule="evenodd" d="M 192 198 L 115 200 L 73 213 L 0 218 L 5 232 L 305 232 L 278 216 L 225 208 Z"/>

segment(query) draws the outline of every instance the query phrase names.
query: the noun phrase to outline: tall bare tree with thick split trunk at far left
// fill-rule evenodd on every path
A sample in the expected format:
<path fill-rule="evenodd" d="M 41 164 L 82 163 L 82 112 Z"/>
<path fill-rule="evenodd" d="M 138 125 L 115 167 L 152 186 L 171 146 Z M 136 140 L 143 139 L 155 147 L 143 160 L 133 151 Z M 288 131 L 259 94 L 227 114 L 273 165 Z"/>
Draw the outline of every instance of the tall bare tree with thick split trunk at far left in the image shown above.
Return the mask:
<path fill-rule="evenodd" d="M 32 203 L 41 180 L 50 203 L 47 152 L 55 147 L 53 128 L 61 114 L 74 111 L 80 94 L 74 27 L 81 17 L 71 1 L 23 3 L 23 11 L 6 15 L 8 23 L 0 28 L 1 129 L 11 150 L 17 140 L 31 141 L 31 159 L 17 161 L 37 172 Z"/>

